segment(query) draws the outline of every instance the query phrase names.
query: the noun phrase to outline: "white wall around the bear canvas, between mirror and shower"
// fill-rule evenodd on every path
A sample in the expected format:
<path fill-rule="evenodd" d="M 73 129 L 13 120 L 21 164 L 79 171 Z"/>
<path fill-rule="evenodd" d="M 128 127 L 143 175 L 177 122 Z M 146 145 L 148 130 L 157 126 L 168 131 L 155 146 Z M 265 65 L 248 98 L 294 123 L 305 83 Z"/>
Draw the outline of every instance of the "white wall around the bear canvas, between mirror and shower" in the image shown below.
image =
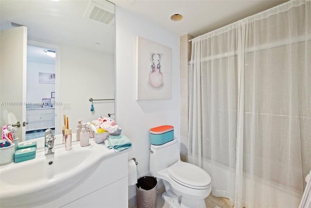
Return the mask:
<path fill-rule="evenodd" d="M 169 19 L 168 19 L 169 21 Z M 172 99 L 136 100 L 136 36 L 172 48 Z M 129 159 L 138 162 L 138 177 L 149 174 L 149 130 L 173 125 L 179 128 L 179 37 L 116 5 L 116 118 L 122 133 L 133 143 Z M 136 195 L 129 187 L 129 198 Z"/>

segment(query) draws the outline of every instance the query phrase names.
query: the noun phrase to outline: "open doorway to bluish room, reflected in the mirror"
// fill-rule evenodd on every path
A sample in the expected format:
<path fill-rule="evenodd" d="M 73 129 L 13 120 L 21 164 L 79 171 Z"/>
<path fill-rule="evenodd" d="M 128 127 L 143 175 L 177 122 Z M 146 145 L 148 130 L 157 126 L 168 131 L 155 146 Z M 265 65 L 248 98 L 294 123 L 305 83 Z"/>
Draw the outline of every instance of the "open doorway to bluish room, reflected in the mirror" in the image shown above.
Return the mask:
<path fill-rule="evenodd" d="M 50 54 L 49 54 L 50 53 Z M 55 134 L 56 51 L 27 45 L 26 140 Z"/>

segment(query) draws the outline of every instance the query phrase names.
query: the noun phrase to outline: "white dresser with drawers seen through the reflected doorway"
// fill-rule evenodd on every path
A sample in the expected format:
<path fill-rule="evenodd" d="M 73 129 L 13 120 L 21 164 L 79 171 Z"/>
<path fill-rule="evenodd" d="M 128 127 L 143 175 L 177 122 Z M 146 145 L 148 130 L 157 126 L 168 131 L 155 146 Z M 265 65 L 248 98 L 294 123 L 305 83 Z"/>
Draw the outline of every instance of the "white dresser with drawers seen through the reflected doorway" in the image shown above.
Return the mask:
<path fill-rule="evenodd" d="M 55 108 L 29 108 L 26 117 L 26 131 L 55 128 Z"/>

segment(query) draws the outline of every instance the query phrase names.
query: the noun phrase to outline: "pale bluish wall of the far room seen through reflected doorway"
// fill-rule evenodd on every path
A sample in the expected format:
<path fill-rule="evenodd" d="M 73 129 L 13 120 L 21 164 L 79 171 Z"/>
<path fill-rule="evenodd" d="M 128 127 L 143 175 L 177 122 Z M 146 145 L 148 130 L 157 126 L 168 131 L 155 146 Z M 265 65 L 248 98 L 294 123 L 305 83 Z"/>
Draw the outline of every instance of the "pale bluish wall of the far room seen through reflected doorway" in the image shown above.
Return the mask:
<path fill-rule="evenodd" d="M 55 74 L 55 65 L 27 61 L 27 102 L 42 102 L 42 98 L 51 98 L 55 84 L 39 83 L 39 72 Z"/>

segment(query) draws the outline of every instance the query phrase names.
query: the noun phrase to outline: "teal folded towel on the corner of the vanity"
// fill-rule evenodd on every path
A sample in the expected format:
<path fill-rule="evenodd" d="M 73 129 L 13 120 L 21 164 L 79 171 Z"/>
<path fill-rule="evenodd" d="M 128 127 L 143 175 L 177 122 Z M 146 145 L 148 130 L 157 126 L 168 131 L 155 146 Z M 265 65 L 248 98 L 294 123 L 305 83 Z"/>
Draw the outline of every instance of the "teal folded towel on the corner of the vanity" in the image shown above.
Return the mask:
<path fill-rule="evenodd" d="M 107 142 L 106 142 L 107 141 Z M 132 147 L 132 142 L 125 135 L 109 135 L 105 140 L 105 145 L 108 149 L 114 151 L 122 151 Z"/>

